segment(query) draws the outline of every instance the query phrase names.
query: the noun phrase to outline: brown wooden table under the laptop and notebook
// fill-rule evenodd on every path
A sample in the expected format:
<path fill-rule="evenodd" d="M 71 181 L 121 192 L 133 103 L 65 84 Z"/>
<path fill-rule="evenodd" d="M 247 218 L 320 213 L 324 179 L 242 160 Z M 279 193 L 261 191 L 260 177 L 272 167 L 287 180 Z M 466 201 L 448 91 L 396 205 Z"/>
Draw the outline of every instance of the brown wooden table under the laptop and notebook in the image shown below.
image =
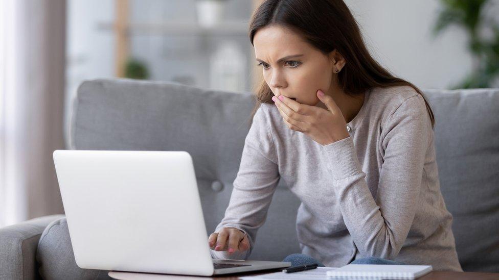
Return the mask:
<path fill-rule="evenodd" d="M 240 276 L 248 275 L 260 275 L 271 272 L 278 272 L 282 269 L 268 269 L 261 270 L 258 272 L 243 272 L 230 274 L 229 276 L 216 276 L 216 277 L 203 277 L 203 276 L 184 276 L 184 275 L 173 275 L 173 274 L 153 274 L 153 273 L 135 273 L 135 272 L 122 272 L 122 271 L 111 271 L 109 276 L 114 279 L 122 280 L 190 280 L 190 279 L 224 279 L 224 280 L 238 280 Z M 418 280 L 469 280 L 469 279 L 484 279 L 484 280 L 499 280 L 499 273 L 487 273 L 487 272 L 450 272 L 450 271 L 433 271 L 420 278 Z"/>

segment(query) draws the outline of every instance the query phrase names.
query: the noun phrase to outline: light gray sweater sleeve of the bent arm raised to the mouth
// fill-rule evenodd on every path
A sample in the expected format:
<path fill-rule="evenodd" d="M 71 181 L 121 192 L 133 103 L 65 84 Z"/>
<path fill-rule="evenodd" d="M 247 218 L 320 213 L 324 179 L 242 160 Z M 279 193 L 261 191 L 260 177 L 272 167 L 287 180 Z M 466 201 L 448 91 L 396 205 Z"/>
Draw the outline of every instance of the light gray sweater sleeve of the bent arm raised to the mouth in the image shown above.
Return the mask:
<path fill-rule="evenodd" d="M 362 257 L 395 259 L 418 207 L 431 123 L 421 95 L 409 97 L 382 127 L 376 199 L 351 137 L 323 146 L 345 225 Z"/>

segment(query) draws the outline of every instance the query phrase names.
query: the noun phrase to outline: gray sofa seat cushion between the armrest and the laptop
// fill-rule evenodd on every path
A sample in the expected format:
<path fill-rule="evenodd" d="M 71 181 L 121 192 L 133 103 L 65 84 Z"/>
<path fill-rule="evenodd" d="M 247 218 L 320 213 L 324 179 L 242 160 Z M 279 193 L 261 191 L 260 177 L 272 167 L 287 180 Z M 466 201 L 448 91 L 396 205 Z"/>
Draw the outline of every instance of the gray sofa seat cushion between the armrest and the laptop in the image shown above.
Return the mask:
<path fill-rule="evenodd" d="M 65 217 L 45 228 L 38 242 L 36 260 L 43 279 L 111 279 L 109 271 L 78 267 Z"/>

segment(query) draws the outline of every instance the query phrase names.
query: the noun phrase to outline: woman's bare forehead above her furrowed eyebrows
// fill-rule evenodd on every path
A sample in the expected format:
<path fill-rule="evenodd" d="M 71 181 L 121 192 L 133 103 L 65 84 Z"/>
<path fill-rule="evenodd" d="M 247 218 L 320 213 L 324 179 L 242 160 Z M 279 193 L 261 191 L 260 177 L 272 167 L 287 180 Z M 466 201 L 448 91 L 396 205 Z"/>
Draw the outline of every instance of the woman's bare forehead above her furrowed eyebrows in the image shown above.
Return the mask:
<path fill-rule="evenodd" d="M 311 49 L 297 32 L 282 26 L 264 27 L 253 38 L 255 55 L 260 59 L 277 60 L 282 56 L 306 53 Z"/>

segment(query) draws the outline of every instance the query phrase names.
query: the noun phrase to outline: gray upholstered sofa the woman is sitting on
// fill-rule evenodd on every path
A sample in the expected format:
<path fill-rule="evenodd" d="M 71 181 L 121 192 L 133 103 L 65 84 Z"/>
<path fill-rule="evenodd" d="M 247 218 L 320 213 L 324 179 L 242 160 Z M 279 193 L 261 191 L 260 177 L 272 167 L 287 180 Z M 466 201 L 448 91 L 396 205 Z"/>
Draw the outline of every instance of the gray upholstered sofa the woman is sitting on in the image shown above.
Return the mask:
<path fill-rule="evenodd" d="M 423 91 L 436 116 L 441 190 L 454 217 L 461 265 L 465 271 L 499 272 L 499 89 Z M 228 206 L 254 105 L 250 93 L 86 81 L 78 88 L 67 148 L 188 151 L 210 234 Z M 300 252 L 299 205 L 281 181 L 250 259 L 281 261 Z M 63 215 L 1 228 L 0 279 L 39 277 L 108 276 L 76 266 Z"/>

